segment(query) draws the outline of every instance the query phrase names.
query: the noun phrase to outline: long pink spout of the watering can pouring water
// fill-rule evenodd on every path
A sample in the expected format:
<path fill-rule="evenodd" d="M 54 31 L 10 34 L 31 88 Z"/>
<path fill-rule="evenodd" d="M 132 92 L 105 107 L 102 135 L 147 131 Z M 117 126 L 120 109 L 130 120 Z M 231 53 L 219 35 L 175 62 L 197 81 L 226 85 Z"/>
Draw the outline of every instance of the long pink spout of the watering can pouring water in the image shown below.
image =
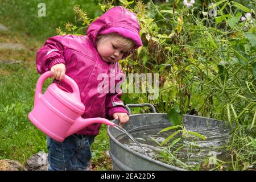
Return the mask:
<path fill-rule="evenodd" d="M 112 127 L 115 126 L 115 123 L 110 122 L 108 119 L 105 119 L 105 118 L 84 119 L 82 117 L 79 117 L 79 118 L 76 119 L 76 121 L 73 123 L 73 125 L 68 130 L 66 137 L 76 133 L 77 131 L 83 129 L 86 126 L 92 125 L 93 123 L 102 123 L 102 124 L 106 124 L 106 125 L 109 125 L 109 126 L 112 126 Z"/>

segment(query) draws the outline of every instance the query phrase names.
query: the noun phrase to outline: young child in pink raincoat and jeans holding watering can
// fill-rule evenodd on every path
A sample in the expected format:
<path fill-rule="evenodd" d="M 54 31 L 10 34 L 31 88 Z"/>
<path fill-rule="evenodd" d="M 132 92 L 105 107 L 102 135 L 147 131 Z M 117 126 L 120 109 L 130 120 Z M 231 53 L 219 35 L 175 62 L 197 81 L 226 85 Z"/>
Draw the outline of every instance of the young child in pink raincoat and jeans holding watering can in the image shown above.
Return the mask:
<path fill-rule="evenodd" d="M 54 82 L 70 92 L 71 87 L 60 81 L 65 74 L 76 81 L 85 105 L 83 118 L 119 119 L 119 125 L 123 126 L 129 116 L 121 101 L 122 93 L 98 92 L 102 80 L 97 78 L 101 73 L 117 77 L 122 73 L 118 61 L 140 46 L 137 16 L 116 6 L 90 24 L 87 36 L 64 35 L 47 39 L 36 55 L 36 68 L 40 74 L 50 70 Z M 92 155 L 90 146 L 100 126 L 95 123 L 85 127 L 63 142 L 47 137 L 48 170 L 88 170 Z"/>

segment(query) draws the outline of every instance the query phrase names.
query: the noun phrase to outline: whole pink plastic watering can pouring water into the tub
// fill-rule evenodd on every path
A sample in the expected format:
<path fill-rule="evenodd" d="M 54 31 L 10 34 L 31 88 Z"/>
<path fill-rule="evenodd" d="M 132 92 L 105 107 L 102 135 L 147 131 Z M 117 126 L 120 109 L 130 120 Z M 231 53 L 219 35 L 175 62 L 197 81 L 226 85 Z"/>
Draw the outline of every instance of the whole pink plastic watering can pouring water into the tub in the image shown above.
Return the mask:
<path fill-rule="evenodd" d="M 79 87 L 71 77 L 65 75 L 63 81 L 69 84 L 73 92 L 52 83 L 42 94 L 43 82 L 51 77 L 51 72 L 43 73 L 36 83 L 34 109 L 28 114 L 30 121 L 43 133 L 62 142 L 66 137 L 93 123 L 115 126 L 105 118 L 84 119 L 85 106 L 80 99 Z"/>

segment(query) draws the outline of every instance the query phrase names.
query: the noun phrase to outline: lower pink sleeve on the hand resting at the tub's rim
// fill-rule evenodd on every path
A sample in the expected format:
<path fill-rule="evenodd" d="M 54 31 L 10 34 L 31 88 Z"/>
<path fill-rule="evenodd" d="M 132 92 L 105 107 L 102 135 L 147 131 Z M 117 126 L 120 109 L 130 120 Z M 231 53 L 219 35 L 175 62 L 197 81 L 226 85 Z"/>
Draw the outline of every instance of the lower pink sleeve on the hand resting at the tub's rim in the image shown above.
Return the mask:
<path fill-rule="evenodd" d="M 114 113 L 128 113 L 125 109 L 125 105 L 121 101 L 122 92 L 119 93 L 109 93 L 106 97 L 106 114 L 107 118 L 114 119 Z"/>

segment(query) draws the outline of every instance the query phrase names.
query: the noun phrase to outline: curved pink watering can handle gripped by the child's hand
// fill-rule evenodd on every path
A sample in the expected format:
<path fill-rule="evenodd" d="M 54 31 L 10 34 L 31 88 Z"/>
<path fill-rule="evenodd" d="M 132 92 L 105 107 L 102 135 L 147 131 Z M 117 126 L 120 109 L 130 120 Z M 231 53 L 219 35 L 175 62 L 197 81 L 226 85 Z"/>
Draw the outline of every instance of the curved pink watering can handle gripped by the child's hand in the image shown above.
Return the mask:
<path fill-rule="evenodd" d="M 43 95 L 42 88 L 43 88 L 44 81 L 46 81 L 47 78 L 51 77 L 51 75 L 52 75 L 51 71 L 47 71 L 47 72 L 43 73 L 39 77 L 38 81 L 36 82 L 34 106 L 38 102 L 39 98 Z M 71 77 L 69 77 L 67 75 L 64 76 L 63 81 L 71 86 L 71 88 L 73 90 L 73 94 L 75 94 L 76 98 L 79 98 L 79 100 L 80 100 L 79 87 L 77 86 L 76 82 Z"/>

